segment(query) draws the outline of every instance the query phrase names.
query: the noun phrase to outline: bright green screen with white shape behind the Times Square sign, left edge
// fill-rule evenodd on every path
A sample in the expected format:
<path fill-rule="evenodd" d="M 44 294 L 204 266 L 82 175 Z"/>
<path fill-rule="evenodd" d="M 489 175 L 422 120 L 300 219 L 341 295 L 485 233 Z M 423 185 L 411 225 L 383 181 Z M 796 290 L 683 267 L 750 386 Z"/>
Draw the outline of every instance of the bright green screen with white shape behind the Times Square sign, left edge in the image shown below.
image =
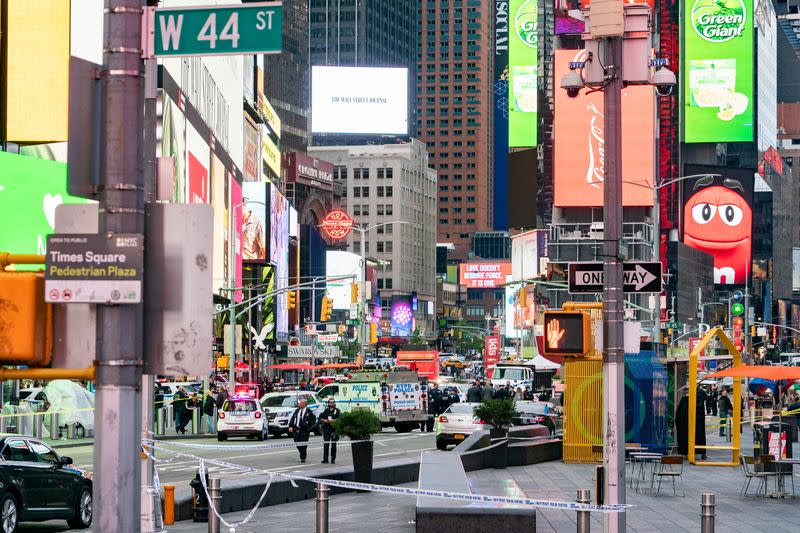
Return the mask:
<path fill-rule="evenodd" d="M 44 254 L 47 235 L 55 229 L 56 207 L 89 201 L 67 194 L 64 163 L 0 152 L 0 168 L 0 250 Z"/>

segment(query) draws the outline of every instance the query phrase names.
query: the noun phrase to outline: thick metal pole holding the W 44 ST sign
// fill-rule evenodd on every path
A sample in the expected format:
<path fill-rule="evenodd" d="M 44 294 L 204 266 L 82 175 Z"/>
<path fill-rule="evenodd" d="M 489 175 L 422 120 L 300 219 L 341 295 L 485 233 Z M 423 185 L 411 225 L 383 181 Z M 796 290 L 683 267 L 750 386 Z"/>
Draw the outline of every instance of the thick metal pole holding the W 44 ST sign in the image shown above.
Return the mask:
<path fill-rule="evenodd" d="M 100 231 L 144 233 L 142 1 L 106 0 Z M 138 531 L 143 304 L 97 305 L 96 531 Z"/>

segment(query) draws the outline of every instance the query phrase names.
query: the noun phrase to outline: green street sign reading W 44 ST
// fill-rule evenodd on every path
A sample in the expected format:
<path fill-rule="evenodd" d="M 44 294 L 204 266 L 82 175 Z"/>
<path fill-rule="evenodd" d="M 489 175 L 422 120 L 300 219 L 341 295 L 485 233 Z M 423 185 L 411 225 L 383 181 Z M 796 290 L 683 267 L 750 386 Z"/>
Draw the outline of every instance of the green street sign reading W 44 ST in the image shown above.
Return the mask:
<path fill-rule="evenodd" d="M 159 8 L 148 12 L 149 56 L 280 53 L 281 2 Z"/>

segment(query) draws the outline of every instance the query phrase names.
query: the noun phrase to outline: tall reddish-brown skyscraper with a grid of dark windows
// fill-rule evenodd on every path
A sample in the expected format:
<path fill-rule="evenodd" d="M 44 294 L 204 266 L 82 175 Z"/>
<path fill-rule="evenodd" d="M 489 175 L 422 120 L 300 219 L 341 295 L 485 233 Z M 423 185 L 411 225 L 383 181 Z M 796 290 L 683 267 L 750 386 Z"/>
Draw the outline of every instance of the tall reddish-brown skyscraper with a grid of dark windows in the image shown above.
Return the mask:
<path fill-rule="evenodd" d="M 438 242 L 463 259 L 472 234 L 492 229 L 494 5 L 419 4 L 417 135 L 439 173 Z"/>

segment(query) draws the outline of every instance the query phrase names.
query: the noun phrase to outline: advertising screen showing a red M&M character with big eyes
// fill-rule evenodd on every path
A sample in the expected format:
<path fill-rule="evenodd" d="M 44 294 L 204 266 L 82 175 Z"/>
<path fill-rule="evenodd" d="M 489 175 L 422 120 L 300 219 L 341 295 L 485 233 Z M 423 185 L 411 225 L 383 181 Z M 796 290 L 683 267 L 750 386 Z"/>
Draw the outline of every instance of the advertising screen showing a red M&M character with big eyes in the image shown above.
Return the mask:
<path fill-rule="evenodd" d="M 686 165 L 683 242 L 714 256 L 714 283 L 744 285 L 753 241 L 753 169 Z"/>

